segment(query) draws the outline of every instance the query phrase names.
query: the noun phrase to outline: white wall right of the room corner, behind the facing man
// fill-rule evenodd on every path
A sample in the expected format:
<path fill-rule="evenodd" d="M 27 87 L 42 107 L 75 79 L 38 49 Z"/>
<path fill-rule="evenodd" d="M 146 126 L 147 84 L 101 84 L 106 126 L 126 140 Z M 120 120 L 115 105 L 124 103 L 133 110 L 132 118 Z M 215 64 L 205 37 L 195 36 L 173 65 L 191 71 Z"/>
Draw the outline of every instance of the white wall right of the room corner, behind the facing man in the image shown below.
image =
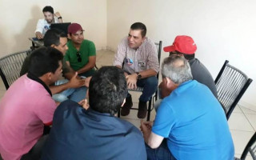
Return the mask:
<path fill-rule="evenodd" d="M 107 0 L 107 45 L 116 50 L 134 22 L 145 23 L 147 36 L 163 46 L 178 34 L 190 35 L 196 57 L 214 78 L 228 59 L 254 79 L 240 104 L 256 107 L 255 8 L 254 0 Z"/>

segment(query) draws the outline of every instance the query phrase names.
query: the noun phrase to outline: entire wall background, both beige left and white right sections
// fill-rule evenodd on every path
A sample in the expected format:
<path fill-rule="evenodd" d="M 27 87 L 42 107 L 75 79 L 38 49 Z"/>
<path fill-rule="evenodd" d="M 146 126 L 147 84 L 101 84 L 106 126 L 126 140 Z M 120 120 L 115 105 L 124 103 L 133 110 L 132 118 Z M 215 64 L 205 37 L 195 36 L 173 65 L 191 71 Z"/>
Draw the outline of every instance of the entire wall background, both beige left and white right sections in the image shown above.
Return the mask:
<path fill-rule="evenodd" d="M 187 34 L 198 45 L 196 56 L 215 78 L 223 62 L 243 70 L 256 81 L 256 1 L 247 0 L 0 0 L 0 57 L 31 46 L 38 18 L 46 5 L 59 11 L 65 22 L 79 22 L 85 38 L 98 50 L 116 50 L 133 22 L 144 22 L 147 36 L 170 45 Z M 162 54 L 162 58 L 167 54 Z M 256 82 L 240 104 L 256 107 Z"/>

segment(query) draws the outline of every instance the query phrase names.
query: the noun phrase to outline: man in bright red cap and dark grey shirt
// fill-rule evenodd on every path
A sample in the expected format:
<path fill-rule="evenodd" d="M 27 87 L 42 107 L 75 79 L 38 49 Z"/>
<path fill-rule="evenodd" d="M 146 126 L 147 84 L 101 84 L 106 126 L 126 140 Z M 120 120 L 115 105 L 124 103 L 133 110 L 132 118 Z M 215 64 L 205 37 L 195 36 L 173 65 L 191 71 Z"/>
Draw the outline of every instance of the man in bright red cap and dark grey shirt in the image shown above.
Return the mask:
<path fill-rule="evenodd" d="M 165 52 L 169 52 L 170 55 L 179 54 L 186 58 L 186 60 L 188 60 L 190 63 L 193 79 L 208 86 L 214 96 L 218 98 L 214 79 L 212 78 L 209 70 L 206 69 L 206 66 L 204 66 L 202 62 L 200 62 L 197 58 L 194 58 L 197 45 L 195 44 L 193 38 L 186 35 L 178 35 L 175 38 L 173 45 L 166 46 L 163 48 L 163 50 Z M 165 88 L 162 87 L 162 82 L 160 83 L 159 88 L 161 89 L 162 98 L 170 94 L 168 90 L 165 90 Z"/>

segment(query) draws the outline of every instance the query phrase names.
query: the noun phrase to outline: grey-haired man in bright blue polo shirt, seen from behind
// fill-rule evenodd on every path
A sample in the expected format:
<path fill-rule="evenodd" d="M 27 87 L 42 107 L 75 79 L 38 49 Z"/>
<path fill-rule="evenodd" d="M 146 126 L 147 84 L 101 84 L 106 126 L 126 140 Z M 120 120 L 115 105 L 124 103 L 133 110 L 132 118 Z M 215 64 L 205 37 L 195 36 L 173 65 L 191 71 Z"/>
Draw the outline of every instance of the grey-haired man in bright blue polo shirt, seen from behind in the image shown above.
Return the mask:
<path fill-rule="evenodd" d="M 171 94 L 162 100 L 153 126 L 141 126 L 147 158 L 233 160 L 224 110 L 207 86 L 192 80 L 189 62 L 178 55 L 165 58 L 162 82 Z"/>

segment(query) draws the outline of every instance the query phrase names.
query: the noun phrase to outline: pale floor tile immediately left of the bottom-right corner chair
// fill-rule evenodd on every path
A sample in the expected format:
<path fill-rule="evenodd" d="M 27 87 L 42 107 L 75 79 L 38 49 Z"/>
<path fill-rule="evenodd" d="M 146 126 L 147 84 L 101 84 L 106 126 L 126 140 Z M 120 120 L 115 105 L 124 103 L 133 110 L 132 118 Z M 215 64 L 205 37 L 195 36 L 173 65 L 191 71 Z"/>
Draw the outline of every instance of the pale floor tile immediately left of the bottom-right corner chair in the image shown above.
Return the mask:
<path fill-rule="evenodd" d="M 234 142 L 234 153 L 242 154 L 246 144 L 253 136 L 254 132 L 242 131 L 242 130 L 230 130 L 233 142 Z"/>

